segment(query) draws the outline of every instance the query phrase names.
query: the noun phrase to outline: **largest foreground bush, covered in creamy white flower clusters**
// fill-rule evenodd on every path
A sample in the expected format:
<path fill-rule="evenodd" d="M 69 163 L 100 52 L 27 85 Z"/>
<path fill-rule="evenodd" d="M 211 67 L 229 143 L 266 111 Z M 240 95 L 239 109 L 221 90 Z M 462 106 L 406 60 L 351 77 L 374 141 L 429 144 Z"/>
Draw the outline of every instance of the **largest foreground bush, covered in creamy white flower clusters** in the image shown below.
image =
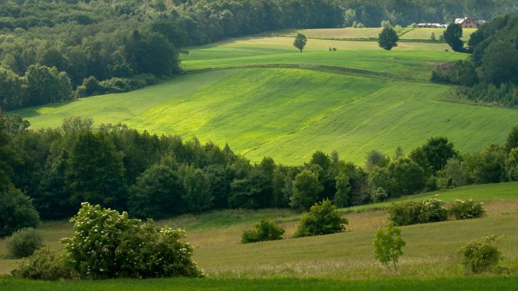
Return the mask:
<path fill-rule="evenodd" d="M 203 276 L 191 260 L 193 247 L 181 241 L 184 231 L 89 203 L 70 221 L 74 235 L 61 242 L 65 263 L 80 278 Z"/>

